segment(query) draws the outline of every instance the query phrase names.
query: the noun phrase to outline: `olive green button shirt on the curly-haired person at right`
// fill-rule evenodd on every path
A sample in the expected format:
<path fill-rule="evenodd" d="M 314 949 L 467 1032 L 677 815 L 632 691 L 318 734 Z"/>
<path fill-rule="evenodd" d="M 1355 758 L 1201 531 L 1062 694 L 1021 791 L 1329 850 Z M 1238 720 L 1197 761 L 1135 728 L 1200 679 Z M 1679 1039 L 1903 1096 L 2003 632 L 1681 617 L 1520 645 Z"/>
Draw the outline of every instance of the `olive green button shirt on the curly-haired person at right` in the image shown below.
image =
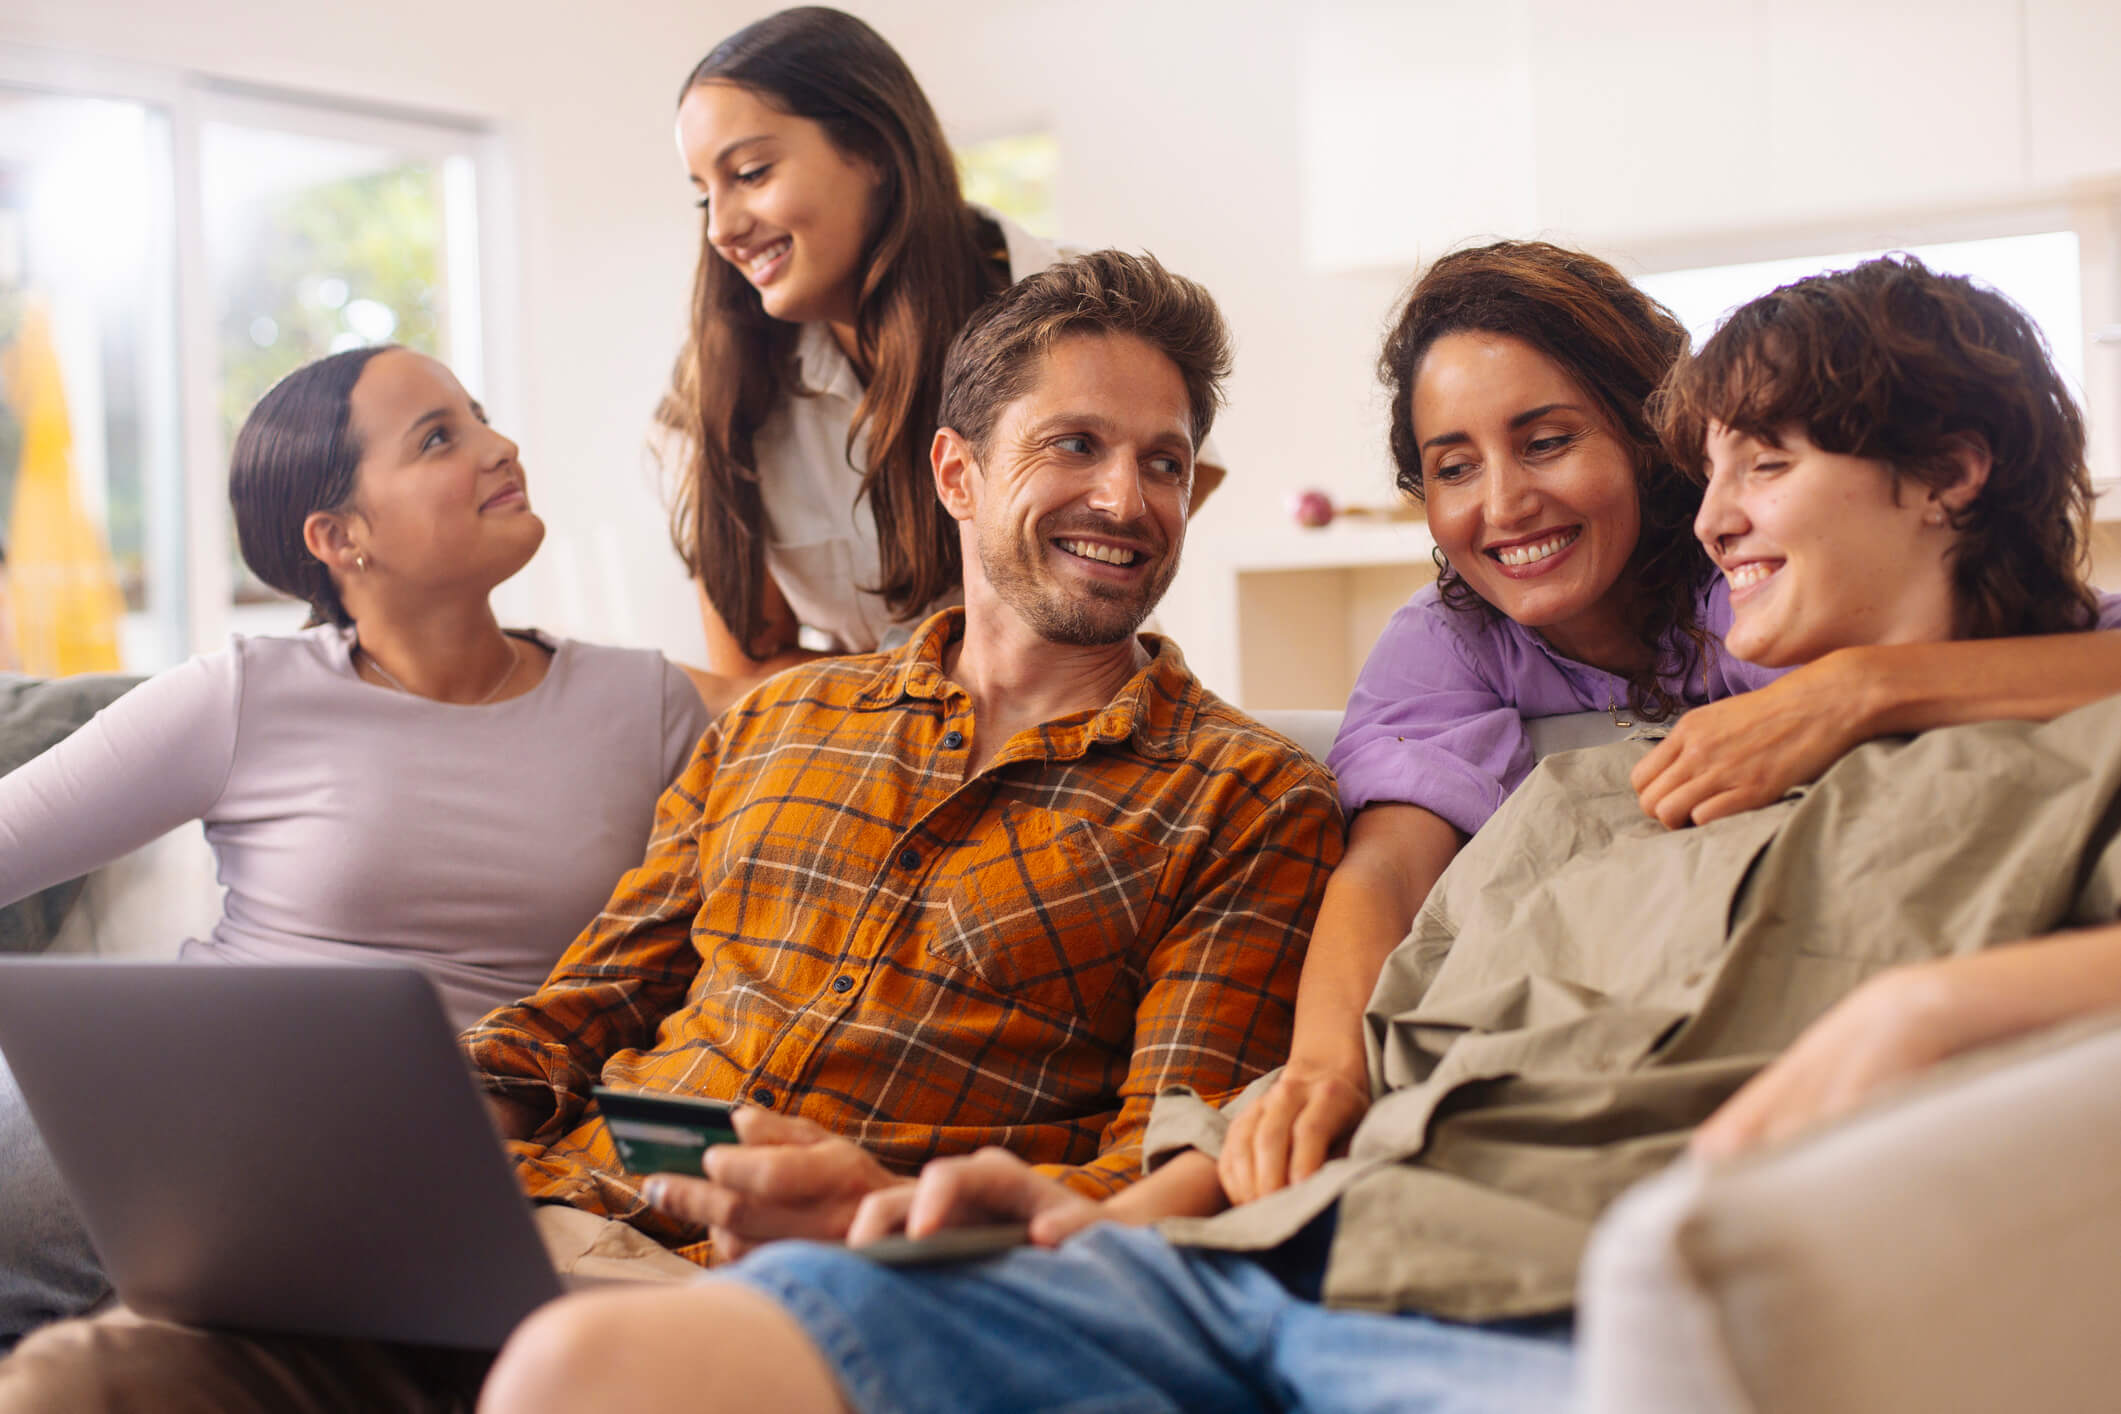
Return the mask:
<path fill-rule="evenodd" d="M 1871 742 L 1682 831 L 1629 789 L 1646 750 L 1548 759 L 1438 880 L 1370 998 L 1349 1155 L 1173 1240 L 1262 1251 L 1338 1202 L 1328 1304 L 1565 1310 L 1606 1204 L 1858 982 L 2121 914 L 2121 700 Z M 1228 1113 L 1162 1096 L 1145 1164 Z"/>

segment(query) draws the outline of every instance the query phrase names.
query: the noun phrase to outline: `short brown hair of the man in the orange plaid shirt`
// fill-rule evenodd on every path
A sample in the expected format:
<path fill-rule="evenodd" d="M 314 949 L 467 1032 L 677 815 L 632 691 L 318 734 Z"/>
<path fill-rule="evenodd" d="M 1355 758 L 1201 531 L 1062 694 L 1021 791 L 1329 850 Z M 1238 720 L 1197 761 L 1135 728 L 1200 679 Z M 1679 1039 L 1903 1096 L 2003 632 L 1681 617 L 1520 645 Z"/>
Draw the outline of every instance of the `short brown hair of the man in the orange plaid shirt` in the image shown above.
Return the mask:
<path fill-rule="evenodd" d="M 1205 288 L 1124 250 L 1048 265 L 980 305 L 942 360 L 937 426 L 986 456 L 995 420 L 1031 388 L 1046 350 L 1092 333 L 1135 335 L 1177 365 L 1198 452 L 1230 377 L 1230 329 Z"/>

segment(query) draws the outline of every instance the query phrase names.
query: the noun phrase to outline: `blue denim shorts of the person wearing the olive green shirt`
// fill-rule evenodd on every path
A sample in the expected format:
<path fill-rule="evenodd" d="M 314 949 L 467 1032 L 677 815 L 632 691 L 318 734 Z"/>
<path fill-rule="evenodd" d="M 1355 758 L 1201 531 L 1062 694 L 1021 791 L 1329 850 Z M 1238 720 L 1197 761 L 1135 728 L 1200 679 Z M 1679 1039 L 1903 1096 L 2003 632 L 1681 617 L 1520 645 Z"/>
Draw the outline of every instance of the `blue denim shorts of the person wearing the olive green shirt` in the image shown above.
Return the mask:
<path fill-rule="evenodd" d="M 776 1242 L 708 1280 L 785 1306 L 870 1414 L 1567 1408 L 1567 1316 L 1478 1327 L 1328 1310 L 1296 1295 L 1315 1291 L 1311 1268 L 1107 1223 L 1058 1251 L 927 1270 Z"/>

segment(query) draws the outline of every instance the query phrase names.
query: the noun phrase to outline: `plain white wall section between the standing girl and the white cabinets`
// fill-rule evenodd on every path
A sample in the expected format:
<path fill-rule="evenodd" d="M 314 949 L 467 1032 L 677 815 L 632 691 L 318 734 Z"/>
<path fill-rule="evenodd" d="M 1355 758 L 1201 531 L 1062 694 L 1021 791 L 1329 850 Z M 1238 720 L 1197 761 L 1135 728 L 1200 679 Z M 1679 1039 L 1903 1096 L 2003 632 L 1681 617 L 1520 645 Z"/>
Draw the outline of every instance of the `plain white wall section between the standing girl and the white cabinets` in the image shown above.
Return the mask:
<path fill-rule="evenodd" d="M 1372 365 L 1410 271 L 1304 263 L 1302 53 L 1313 6 L 1279 0 L 846 0 L 897 45 L 952 136 L 1050 127 L 1060 227 L 1156 252 L 1215 293 L 1237 373 L 1215 439 L 1230 481 L 1188 532 L 1162 628 L 1234 693 L 1215 591 L 1237 541 L 1287 526 L 1290 492 L 1391 498 Z M 1332 628 L 1330 632 L 1338 632 Z"/>

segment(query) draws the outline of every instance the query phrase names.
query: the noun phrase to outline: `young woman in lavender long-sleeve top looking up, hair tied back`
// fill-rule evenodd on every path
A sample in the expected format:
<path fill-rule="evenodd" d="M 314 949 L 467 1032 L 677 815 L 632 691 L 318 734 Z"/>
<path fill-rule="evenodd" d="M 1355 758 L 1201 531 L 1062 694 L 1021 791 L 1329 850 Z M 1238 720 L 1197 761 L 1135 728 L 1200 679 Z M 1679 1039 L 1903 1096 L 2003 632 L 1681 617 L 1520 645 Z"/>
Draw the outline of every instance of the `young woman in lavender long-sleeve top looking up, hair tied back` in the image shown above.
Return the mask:
<path fill-rule="evenodd" d="M 0 776 L 0 903 L 204 820 L 195 962 L 409 962 L 460 1026 L 537 990 L 647 848 L 706 710 L 660 653 L 503 632 L 545 534 L 445 367 L 354 350 L 265 394 L 229 475 L 244 560 L 314 625 L 235 638 Z M 93 1045 L 93 1037 L 83 1041 Z M 104 1289 L 0 1068 L 0 1350 Z"/>

